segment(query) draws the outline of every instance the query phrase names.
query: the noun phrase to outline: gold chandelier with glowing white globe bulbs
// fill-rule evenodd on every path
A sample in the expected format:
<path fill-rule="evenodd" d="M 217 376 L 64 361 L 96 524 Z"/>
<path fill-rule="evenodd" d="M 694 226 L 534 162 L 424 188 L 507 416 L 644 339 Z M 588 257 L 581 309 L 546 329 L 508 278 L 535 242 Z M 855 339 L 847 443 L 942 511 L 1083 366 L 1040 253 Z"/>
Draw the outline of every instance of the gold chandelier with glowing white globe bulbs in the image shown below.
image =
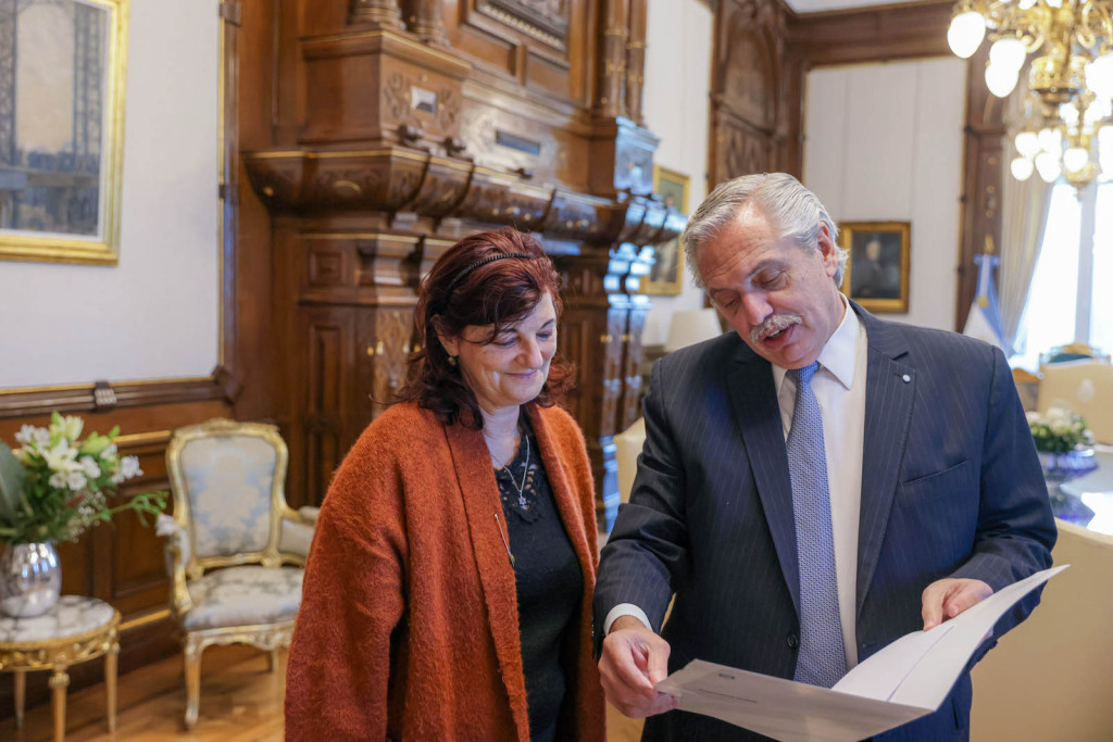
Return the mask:
<path fill-rule="evenodd" d="M 958 0 L 947 29 L 966 59 L 988 36 L 989 91 L 1007 97 L 1028 55 L 1027 113 L 1014 144 L 1013 177 L 1060 175 L 1082 189 L 1113 175 L 1113 0 Z"/>

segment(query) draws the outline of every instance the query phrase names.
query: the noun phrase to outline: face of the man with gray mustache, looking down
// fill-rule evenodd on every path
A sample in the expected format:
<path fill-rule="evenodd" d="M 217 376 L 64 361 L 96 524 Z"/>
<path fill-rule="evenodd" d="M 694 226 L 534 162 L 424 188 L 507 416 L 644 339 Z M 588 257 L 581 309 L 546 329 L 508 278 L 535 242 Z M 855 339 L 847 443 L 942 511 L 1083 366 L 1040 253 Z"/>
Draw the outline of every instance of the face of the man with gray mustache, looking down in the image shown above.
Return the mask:
<path fill-rule="evenodd" d="M 819 249 L 778 239 L 765 216 L 743 207 L 699 251 L 711 301 L 762 358 L 801 368 L 819 357 L 845 311 L 833 276 L 838 257 L 827 228 Z"/>

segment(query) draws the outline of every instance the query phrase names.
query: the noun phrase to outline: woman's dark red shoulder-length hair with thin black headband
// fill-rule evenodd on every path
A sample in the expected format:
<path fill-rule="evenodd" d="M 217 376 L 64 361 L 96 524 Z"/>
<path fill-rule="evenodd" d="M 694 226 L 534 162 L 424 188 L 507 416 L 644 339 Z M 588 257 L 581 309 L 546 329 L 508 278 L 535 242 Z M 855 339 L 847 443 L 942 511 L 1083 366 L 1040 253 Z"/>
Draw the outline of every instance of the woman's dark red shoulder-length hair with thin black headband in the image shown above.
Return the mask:
<path fill-rule="evenodd" d="M 529 257 L 490 260 L 500 255 Z M 473 267 L 477 263 L 482 265 Z M 397 398 L 417 402 L 446 425 L 460 422 L 482 428 L 475 394 L 459 368 L 449 363 L 437 328 L 449 337 L 460 337 L 470 325 L 490 325 L 483 342 L 491 343 L 533 311 L 545 294 L 552 297 L 559 325 L 563 310 L 560 289 L 560 274 L 531 235 L 505 227 L 481 231 L 453 245 L 433 265 L 417 291 L 414 321 L 420 349 L 410 355 L 406 383 Z M 554 356 L 534 402 L 544 407 L 562 402 L 572 374 L 572 365 L 559 354 Z"/>

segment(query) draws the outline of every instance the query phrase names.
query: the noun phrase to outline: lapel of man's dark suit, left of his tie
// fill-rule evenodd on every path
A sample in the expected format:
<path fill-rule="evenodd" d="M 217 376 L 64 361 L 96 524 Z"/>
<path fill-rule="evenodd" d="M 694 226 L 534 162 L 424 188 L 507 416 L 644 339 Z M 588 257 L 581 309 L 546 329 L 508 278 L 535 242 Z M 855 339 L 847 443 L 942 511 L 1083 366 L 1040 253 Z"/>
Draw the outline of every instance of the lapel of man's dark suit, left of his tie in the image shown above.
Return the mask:
<path fill-rule="evenodd" d="M 785 429 L 772 380 L 772 369 L 739 340 L 727 388 L 730 389 L 738 427 L 746 445 L 761 507 L 777 547 L 785 583 L 800 612 L 800 572 L 796 554 L 796 524 L 792 517 L 792 484 L 788 475 Z"/>

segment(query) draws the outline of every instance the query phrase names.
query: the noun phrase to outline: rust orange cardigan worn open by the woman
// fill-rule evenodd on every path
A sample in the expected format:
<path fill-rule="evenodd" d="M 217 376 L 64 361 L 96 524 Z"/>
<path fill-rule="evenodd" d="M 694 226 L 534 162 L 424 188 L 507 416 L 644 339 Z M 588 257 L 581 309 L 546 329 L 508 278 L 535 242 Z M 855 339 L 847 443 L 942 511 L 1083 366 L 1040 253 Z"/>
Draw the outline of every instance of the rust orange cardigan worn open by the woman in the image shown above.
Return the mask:
<path fill-rule="evenodd" d="M 528 410 L 583 570 L 561 739 L 602 740 L 591 468 L 568 413 Z M 502 503 L 480 432 L 410 403 L 367 427 L 314 534 L 289 652 L 287 740 L 529 742 L 514 570 L 495 515 Z"/>

